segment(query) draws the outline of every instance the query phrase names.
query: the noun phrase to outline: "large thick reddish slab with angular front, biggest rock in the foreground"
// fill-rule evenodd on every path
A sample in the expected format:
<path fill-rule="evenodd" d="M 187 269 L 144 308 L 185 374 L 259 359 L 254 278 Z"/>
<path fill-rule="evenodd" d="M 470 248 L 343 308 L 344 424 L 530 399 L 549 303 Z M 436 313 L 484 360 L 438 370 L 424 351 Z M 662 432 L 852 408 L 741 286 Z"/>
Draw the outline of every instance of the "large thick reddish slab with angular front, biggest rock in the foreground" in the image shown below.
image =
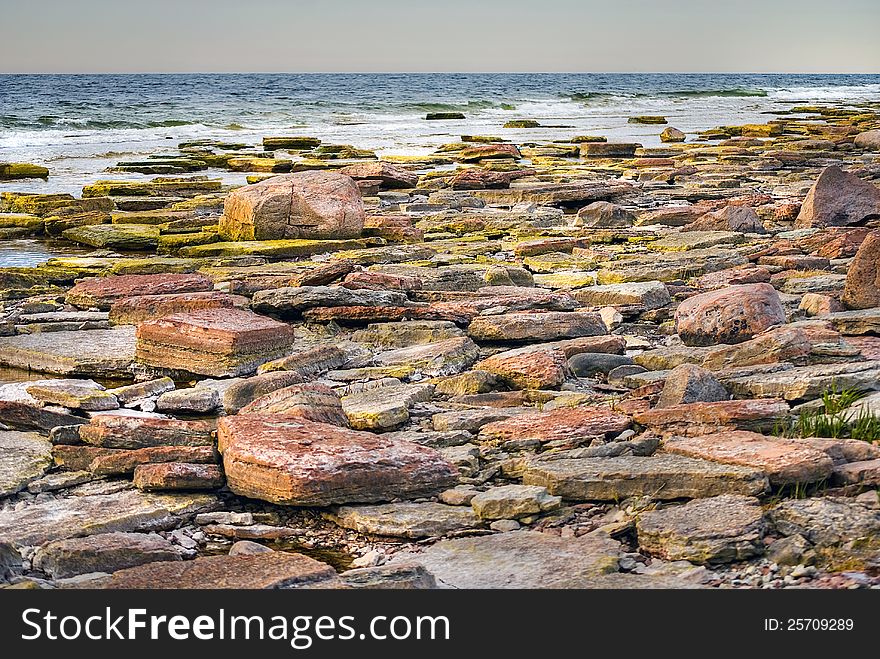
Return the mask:
<path fill-rule="evenodd" d="M 229 489 L 273 503 L 326 506 L 425 496 L 458 478 L 432 449 L 278 415 L 222 418 L 218 440 Z"/>

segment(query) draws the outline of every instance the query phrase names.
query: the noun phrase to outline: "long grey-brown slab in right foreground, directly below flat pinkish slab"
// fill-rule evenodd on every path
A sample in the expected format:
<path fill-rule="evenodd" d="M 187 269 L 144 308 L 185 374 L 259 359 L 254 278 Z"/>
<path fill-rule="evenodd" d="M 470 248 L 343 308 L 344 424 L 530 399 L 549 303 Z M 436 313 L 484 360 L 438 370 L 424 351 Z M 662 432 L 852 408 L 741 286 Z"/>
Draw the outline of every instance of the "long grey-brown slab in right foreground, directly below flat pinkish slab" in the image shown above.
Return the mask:
<path fill-rule="evenodd" d="M 658 500 L 720 494 L 756 496 L 768 486 L 759 469 L 679 455 L 538 458 L 525 466 L 523 484 L 544 486 L 551 494 L 573 501 L 619 501 L 631 496 Z"/>

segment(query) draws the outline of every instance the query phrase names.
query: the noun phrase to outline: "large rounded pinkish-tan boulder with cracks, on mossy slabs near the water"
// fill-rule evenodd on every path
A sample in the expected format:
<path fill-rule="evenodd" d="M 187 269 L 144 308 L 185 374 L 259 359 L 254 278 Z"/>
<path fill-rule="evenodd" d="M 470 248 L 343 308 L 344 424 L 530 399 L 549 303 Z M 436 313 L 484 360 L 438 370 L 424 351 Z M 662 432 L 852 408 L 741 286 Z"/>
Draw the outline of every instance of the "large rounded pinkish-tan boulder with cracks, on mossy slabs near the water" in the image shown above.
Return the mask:
<path fill-rule="evenodd" d="M 308 171 L 233 190 L 220 233 L 228 240 L 355 238 L 364 227 L 357 184 L 335 172 Z"/>

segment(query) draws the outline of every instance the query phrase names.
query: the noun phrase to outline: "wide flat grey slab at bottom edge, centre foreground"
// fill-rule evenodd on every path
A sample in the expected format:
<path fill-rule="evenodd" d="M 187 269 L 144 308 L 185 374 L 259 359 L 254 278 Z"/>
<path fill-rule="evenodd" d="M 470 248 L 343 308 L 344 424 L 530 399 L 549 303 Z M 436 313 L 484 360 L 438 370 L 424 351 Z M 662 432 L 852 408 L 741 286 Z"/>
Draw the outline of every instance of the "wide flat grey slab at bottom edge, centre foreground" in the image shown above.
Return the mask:
<path fill-rule="evenodd" d="M 441 540 L 400 552 L 390 564 L 420 564 L 441 588 L 591 588 L 617 572 L 619 553 L 620 544 L 605 535 L 512 531 Z"/>

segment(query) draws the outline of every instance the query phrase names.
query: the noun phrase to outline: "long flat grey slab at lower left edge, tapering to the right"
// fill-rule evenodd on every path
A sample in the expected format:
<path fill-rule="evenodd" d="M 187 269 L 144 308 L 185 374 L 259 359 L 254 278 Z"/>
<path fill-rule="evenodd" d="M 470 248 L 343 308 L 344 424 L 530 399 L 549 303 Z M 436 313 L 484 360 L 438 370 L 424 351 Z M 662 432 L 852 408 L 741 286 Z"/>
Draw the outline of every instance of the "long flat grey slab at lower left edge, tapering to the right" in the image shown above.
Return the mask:
<path fill-rule="evenodd" d="M 28 503 L 0 515 L 0 541 L 16 547 L 114 531 L 173 529 L 181 519 L 207 512 L 207 494 L 147 494 L 123 490 Z"/>

